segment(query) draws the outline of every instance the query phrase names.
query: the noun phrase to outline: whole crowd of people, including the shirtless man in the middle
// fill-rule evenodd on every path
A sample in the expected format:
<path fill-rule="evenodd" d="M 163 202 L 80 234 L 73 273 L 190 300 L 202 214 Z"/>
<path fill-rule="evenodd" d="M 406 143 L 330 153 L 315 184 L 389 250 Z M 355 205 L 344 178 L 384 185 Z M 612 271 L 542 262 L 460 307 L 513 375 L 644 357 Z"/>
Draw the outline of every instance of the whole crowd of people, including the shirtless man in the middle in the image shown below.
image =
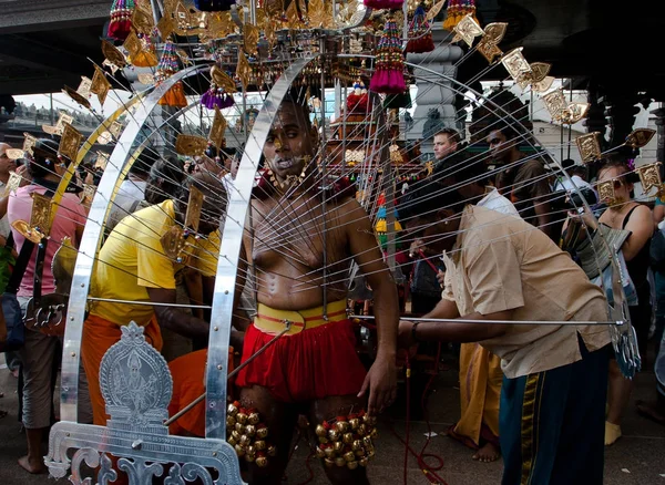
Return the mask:
<path fill-rule="evenodd" d="M 437 133 L 433 173 L 398 199 L 405 228 L 399 239 L 411 258 L 410 314 L 423 317 L 400 321 L 397 285 L 354 186 L 321 183 L 317 157 L 325 149 L 309 112 L 291 99 L 278 109 L 245 223 L 231 334 L 229 369 L 250 361 L 233 382 L 233 406 L 260 415 L 275 450 L 267 462 L 243 461 L 249 483 L 280 482 L 300 416 L 319 437 L 331 483 L 368 483 L 365 465 L 375 453 L 374 436 L 355 448 L 362 454 L 337 463 L 327 453 L 336 441 L 329 423 L 359 416 L 374 423 L 396 400 L 398 350 L 410 354 L 428 342 L 461 344 L 461 417 L 448 434 L 473 448 L 475 460 L 502 456 L 503 484 L 603 483 L 604 445 L 621 436 L 634 384 L 612 357 L 607 296 L 594 280 L 601 276 L 585 269 L 581 248 L 601 233 L 621 238 L 620 254 L 635 290 L 630 318 L 646 365 L 653 311 L 649 240 L 661 230 L 663 205 L 652 211 L 636 202 L 633 171 L 611 159 L 597 182 L 612 180 L 614 198 L 600 207 L 604 211 L 596 220 L 570 207 L 574 193 L 594 190 L 582 167 L 565 163 L 572 177 L 562 177 L 542 157 L 525 156 L 523 136 L 504 124 L 488 131 L 489 155 L 471 155 L 462 138 L 451 128 Z M 33 193 L 53 196 L 69 161 L 50 140 L 38 141 L 23 165 L 7 155 L 9 148 L 0 145 L 0 182 L 7 184 L 14 171 L 23 182 L 0 202 L 0 242 L 14 258 L 7 265 L 13 274 L 6 270 L 4 320 L 11 301 L 29 316 L 31 300 L 55 291 L 53 259 L 65 238 L 78 247 L 88 221 L 83 184 L 93 186 L 101 175 L 83 165 L 57 207 L 48 244 L 25 246 L 12 223 L 30 220 Z M 205 392 L 211 318 L 205 308 L 213 300 L 221 221 L 242 151 L 236 155 L 209 147 L 185 164 L 146 147 L 130 167 L 93 269 L 93 301 L 81 342 L 79 422 L 106 423 L 100 364 L 130 321 L 144 328 L 149 343 L 170 363 L 171 415 Z M 488 157 L 495 165 L 490 172 Z M 193 193 L 203 196 L 194 216 Z M 183 229 L 196 238 L 174 254 L 174 238 L 187 237 Z M 348 318 L 348 281 L 340 277 L 352 264 L 372 291 L 377 352 L 369 367 L 358 355 L 358 323 Z M 659 345 L 665 290 L 662 274 L 655 274 Z M 253 312 L 241 305 L 247 289 Z M 272 344 L 285 321 L 291 324 L 288 332 Z M 0 338 L 7 340 L 7 332 Z M 27 324 L 22 348 L 8 354 L 12 369 L 20 362 L 27 455 L 19 464 L 30 473 L 45 471 L 42 441 L 53 420 L 60 345 L 61 337 Z M 640 403 L 640 412 L 665 424 L 662 401 Z M 203 403 L 170 430 L 203 437 Z M 120 479 L 126 477 L 121 473 Z"/>

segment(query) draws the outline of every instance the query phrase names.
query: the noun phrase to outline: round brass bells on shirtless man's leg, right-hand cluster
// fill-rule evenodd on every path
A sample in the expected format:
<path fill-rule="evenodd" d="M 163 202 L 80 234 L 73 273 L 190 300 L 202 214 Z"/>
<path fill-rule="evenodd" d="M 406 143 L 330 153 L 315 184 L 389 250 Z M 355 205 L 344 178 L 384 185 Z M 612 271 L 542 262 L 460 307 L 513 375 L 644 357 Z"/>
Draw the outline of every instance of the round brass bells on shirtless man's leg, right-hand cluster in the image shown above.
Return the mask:
<path fill-rule="evenodd" d="M 334 423 L 325 422 L 316 426 L 319 444 L 316 456 L 328 467 L 346 466 L 356 469 L 367 466 L 375 456 L 372 440 L 377 436 L 376 417 L 365 412 L 349 416 L 338 416 Z"/>

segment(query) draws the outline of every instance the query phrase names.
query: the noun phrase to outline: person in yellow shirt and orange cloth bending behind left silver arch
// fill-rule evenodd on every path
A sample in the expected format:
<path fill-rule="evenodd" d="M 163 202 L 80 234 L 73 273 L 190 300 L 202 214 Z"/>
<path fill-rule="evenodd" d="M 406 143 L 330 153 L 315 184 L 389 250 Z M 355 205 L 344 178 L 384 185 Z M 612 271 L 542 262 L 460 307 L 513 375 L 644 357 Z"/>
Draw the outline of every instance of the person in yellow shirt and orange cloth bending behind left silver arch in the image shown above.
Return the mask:
<path fill-rule="evenodd" d="M 108 415 L 101 394 L 99 371 L 102 358 L 111 345 L 120 341 L 121 327 L 135 321 L 145 328 L 149 343 L 160 350 L 160 327 L 186 337 L 206 338 L 208 323 L 175 306 L 175 272 L 178 265 L 196 267 L 200 255 L 194 251 L 184 259 L 170 258 L 162 238 L 167 237 L 185 220 L 190 187 L 198 188 L 203 195 L 203 208 L 198 231 L 214 233 L 226 207 L 226 193 L 219 180 L 209 174 L 190 177 L 181 196 L 139 210 L 125 217 L 111 233 L 102 247 L 93 270 L 90 316 L 83 326 L 81 359 L 90 375 L 90 398 L 94 424 L 105 425 Z M 166 244 L 166 242 L 164 242 Z M 104 300 L 125 300 L 156 303 L 132 305 Z"/>

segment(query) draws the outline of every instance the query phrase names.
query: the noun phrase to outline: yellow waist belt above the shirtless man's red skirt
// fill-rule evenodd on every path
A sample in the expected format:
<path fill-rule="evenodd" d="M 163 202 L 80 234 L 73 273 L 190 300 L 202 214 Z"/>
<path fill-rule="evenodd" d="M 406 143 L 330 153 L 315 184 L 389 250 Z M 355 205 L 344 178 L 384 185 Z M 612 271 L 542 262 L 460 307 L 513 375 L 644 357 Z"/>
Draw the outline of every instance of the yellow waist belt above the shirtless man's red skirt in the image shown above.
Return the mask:
<path fill-rule="evenodd" d="M 286 322 L 290 322 L 290 329 L 286 336 L 295 336 L 306 329 L 315 329 L 327 323 L 334 323 L 347 319 L 347 300 L 338 300 L 328 303 L 327 319 L 324 320 L 324 307 L 308 308 L 306 310 L 277 310 L 258 303 L 258 311 L 254 318 L 254 327 L 264 333 L 276 334 L 284 330 Z"/>

